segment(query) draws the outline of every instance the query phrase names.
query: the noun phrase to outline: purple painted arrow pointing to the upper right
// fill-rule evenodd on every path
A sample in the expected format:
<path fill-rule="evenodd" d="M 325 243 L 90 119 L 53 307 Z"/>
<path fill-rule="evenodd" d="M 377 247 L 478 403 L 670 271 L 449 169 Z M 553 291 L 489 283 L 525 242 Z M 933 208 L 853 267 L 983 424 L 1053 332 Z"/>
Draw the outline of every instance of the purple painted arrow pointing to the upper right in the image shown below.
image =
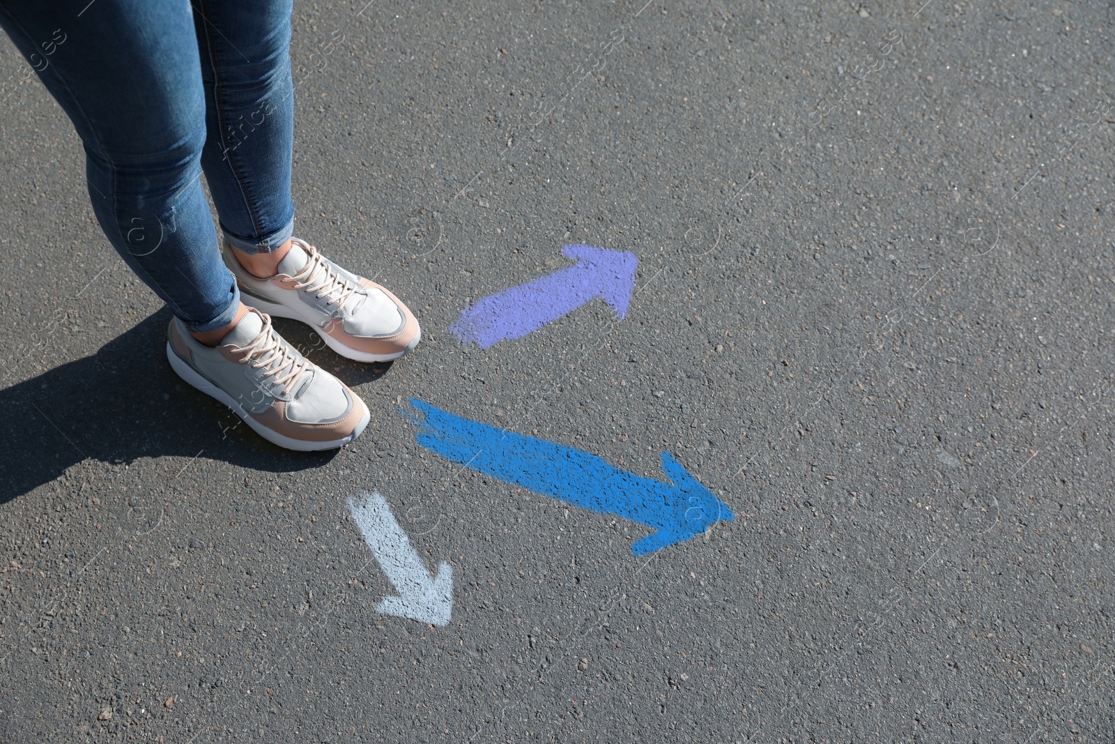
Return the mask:
<path fill-rule="evenodd" d="M 591 245 L 566 245 L 561 252 L 576 263 L 468 306 L 449 331 L 464 344 L 475 341 L 486 349 L 522 338 L 598 297 L 623 320 L 639 259 Z"/>

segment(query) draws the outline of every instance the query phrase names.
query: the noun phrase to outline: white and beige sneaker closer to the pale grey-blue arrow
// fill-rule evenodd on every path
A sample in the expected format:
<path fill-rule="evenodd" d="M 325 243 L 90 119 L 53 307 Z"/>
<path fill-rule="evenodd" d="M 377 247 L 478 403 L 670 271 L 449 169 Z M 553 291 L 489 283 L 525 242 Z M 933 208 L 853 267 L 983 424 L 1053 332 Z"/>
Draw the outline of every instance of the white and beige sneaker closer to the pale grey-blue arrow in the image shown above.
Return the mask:
<path fill-rule="evenodd" d="M 371 418 L 356 393 L 299 354 L 259 310 L 250 310 L 215 348 L 173 318 L 166 358 L 182 379 L 280 447 L 336 450 Z"/>

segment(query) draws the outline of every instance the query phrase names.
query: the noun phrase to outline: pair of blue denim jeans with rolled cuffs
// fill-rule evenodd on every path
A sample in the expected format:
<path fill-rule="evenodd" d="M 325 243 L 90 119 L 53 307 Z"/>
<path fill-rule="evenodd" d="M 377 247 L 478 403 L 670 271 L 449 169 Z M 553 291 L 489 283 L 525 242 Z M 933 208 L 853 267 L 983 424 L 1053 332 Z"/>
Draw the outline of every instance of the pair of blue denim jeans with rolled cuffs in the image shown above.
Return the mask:
<path fill-rule="evenodd" d="M 223 239 L 291 236 L 292 0 L 0 0 L 0 27 L 85 145 L 93 210 L 193 331 L 232 322 Z"/>

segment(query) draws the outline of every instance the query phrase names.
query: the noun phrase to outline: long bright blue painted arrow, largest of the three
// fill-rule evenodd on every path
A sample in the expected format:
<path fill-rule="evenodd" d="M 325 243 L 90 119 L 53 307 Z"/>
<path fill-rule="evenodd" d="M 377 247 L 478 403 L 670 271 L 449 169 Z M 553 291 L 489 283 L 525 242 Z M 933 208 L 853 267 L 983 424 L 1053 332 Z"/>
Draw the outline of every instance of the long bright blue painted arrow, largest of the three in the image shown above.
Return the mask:
<path fill-rule="evenodd" d="M 633 555 L 700 534 L 731 510 L 686 468 L 662 453 L 662 472 L 672 483 L 640 477 L 595 455 L 553 442 L 522 436 L 454 416 L 417 398 L 410 415 L 419 427 L 415 439 L 446 460 L 568 504 L 615 514 L 656 532 L 631 545 Z"/>

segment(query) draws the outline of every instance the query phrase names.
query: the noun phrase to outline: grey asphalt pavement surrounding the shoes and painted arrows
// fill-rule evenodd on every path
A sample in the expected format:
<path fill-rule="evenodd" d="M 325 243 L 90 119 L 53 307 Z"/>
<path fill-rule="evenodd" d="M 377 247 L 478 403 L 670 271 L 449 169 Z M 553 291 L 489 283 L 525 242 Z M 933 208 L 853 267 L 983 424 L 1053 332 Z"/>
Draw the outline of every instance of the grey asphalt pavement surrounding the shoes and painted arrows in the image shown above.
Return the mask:
<path fill-rule="evenodd" d="M 298 234 L 424 328 L 314 354 L 372 419 L 310 455 L 175 377 L 0 40 L 0 741 L 1115 738 L 1115 9 L 644 2 L 297 2 Z M 566 243 L 624 320 L 445 330 Z M 736 521 L 633 558 L 411 396 Z M 448 626 L 376 612 L 374 490 Z"/>

